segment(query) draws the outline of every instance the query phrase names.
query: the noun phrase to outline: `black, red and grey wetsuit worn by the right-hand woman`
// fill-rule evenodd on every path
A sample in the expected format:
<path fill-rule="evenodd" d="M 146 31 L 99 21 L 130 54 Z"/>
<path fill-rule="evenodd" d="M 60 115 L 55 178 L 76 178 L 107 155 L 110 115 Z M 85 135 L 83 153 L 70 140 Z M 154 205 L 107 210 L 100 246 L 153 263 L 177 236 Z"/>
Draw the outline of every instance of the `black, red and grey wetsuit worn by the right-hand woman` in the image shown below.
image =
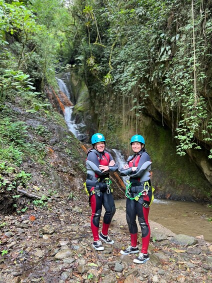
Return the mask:
<path fill-rule="evenodd" d="M 129 168 L 122 168 L 120 172 L 122 176 L 130 176 L 130 198 L 137 196 L 139 192 L 142 192 L 144 190 L 144 188 L 148 189 L 147 192 L 143 191 L 142 195 L 139 196 L 137 200 L 130 198 L 126 199 L 126 221 L 131 236 L 131 246 L 135 247 L 137 245 L 137 215 L 142 233 L 141 252 L 147 253 L 150 239 L 148 213 L 149 204 L 152 197 L 150 183 L 151 160 L 148 153 L 143 148 L 138 153 L 129 156 L 129 158 L 127 159 L 127 164 L 129 165 Z M 137 167 L 137 169 L 135 171 L 132 171 L 131 167 Z"/>

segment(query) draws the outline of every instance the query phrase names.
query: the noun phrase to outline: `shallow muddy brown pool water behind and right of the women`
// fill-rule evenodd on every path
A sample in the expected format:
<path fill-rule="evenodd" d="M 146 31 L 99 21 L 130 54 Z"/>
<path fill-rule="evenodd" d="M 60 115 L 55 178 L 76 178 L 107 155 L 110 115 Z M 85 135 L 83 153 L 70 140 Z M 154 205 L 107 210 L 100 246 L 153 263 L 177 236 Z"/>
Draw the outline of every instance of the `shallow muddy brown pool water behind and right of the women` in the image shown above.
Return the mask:
<path fill-rule="evenodd" d="M 116 206 L 125 207 L 125 199 L 115 200 Z M 176 234 L 203 235 L 212 242 L 212 208 L 196 202 L 154 199 L 149 220 L 157 222 Z"/>

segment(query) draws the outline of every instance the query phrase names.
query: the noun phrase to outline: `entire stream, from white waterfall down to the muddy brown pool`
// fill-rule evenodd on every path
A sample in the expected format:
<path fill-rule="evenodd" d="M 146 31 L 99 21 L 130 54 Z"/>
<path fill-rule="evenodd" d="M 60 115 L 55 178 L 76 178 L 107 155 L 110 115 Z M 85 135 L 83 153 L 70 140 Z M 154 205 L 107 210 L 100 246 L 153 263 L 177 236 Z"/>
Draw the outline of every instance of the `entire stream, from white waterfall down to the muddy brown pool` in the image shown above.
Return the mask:
<path fill-rule="evenodd" d="M 64 82 L 57 79 L 59 89 L 71 99 L 71 94 Z M 75 120 L 71 118 L 73 107 L 65 107 L 64 120 L 68 130 L 74 136 L 83 141 L 84 134 L 80 132 L 82 124 L 75 124 Z M 114 160 L 121 168 L 124 164 L 122 154 L 117 149 L 112 149 Z M 126 184 L 127 177 L 123 177 L 123 182 Z M 125 207 L 125 199 L 116 200 L 116 206 Z M 154 199 L 150 211 L 149 220 L 157 222 L 168 228 L 176 234 L 185 234 L 190 236 L 203 235 L 204 240 L 212 242 L 212 222 L 208 218 L 212 217 L 212 208 L 206 207 L 206 204 L 197 202 L 173 201 Z"/>

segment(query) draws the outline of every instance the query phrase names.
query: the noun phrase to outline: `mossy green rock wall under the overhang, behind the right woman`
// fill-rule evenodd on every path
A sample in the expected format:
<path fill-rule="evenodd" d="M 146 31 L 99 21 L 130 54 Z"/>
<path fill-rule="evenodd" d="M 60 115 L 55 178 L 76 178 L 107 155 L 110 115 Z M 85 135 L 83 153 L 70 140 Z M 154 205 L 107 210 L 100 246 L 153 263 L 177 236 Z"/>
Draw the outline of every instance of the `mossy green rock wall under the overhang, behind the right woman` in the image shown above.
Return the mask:
<path fill-rule="evenodd" d="M 198 188 L 202 193 L 207 189 L 200 171 L 190 162 L 189 157 L 176 154 L 176 143 L 172 139 L 171 132 L 150 122 L 143 128 L 143 135 L 146 140 L 146 149 L 152 159 L 152 170 L 160 168 L 167 172 L 170 179 L 175 181 L 177 186 L 187 185 Z"/>

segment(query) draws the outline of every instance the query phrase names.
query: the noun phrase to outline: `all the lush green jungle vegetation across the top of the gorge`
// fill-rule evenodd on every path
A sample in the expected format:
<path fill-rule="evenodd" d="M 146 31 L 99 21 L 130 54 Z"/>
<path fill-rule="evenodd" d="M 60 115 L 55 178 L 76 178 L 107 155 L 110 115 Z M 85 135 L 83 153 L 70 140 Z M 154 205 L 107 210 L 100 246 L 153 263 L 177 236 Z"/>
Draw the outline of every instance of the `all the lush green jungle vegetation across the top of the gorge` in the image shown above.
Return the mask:
<path fill-rule="evenodd" d="M 85 80 L 97 131 L 124 142 L 142 115 L 159 115 L 179 155 L 204 148 L 211 158 L 211 8 L 210 0 L 0 0 L 0 100 L 43 102 L 55 72 L 72 70 Z"/>

